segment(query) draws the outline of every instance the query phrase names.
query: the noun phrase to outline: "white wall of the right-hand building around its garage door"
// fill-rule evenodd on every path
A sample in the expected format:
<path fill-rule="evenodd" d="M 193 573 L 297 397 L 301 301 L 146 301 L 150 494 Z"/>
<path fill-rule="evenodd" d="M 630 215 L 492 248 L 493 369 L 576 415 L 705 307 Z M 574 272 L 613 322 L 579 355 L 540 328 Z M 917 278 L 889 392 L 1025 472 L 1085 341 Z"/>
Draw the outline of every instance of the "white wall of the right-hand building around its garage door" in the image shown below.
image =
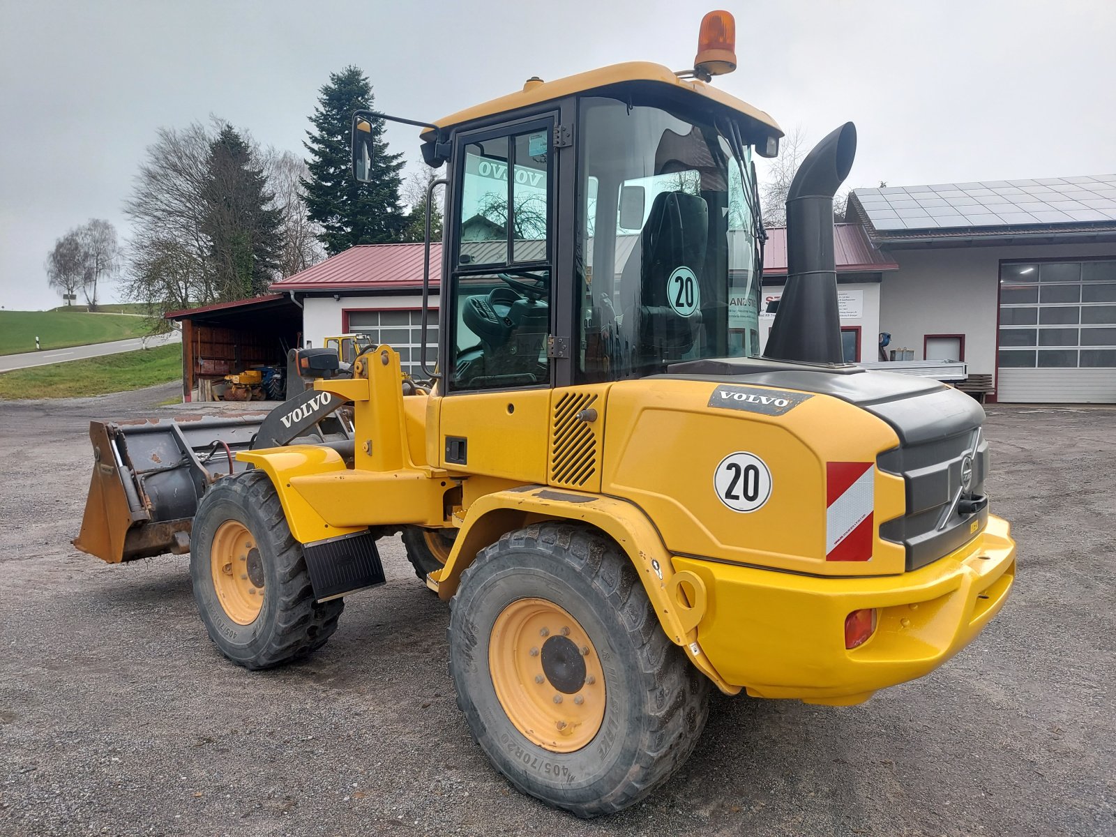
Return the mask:
<path fill-rule="evenodd" d="M 995 373 L 995 337 L 1001 259 L 1110 256 L 1116 244 L 1030 244 L 1011 247 L 889 250 L 898 270 L 884 273 L 879 296 L 881 331 L 892 348 L 923 357 L 927 334 L 963 334 L 971 375 Z"/>

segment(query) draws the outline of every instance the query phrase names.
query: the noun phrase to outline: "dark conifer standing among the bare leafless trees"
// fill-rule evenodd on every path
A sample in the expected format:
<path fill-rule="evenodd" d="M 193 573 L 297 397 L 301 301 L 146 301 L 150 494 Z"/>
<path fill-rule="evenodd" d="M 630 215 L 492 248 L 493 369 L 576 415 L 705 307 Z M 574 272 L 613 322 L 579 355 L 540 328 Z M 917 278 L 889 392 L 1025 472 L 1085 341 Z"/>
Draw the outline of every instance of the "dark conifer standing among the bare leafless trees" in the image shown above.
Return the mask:
<path fill-rule="evenodd" d="M 210 143 L 202 195 L 218 298 L 266 292 L 278 268 L 282 218 L 251 146 L 230 125 Z"/>

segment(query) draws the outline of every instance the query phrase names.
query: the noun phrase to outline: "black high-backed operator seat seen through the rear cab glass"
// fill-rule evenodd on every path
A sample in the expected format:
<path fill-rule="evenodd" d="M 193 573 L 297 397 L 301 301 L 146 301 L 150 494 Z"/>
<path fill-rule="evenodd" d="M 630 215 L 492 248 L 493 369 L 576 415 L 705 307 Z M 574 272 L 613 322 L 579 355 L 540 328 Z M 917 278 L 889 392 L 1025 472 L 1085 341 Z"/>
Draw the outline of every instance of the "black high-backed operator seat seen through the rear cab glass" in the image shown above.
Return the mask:
<path fill-rule="evenodd" d="M 703 198 L 681 191 L 655 195 L 635 251 L 641 258 L 629 257 L 620 275 L 620 309 L 632 340 L 634 374 L 664 372 L 667 363 L 693 348 L 701 328 L 700 299 L 698 310 L 683 316 L 671 306 L 668 285 L 675 270 L 690 268 L 700 295 L 708 240 L 709 208 Z"/>

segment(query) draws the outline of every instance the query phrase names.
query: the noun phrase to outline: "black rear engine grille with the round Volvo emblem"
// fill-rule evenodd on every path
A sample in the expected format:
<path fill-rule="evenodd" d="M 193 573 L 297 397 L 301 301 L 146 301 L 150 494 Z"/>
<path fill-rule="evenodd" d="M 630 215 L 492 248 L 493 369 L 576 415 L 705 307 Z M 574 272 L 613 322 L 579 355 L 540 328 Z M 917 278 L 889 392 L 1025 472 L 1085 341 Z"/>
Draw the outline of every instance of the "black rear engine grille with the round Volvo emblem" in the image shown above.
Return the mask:
<path fill-rule="evenodd" d="M 879 454 L 879 470 L 903 478 L 907 510 L 883 523 L 879 535 L 904 546 L 908 570 L 949 555 L 984 528 L 988 504 L 975 501 L 984 497 L 988 460 L 988 442 L 979 425 Z M 963 489 L 966 469 L 971 479 Z"/>

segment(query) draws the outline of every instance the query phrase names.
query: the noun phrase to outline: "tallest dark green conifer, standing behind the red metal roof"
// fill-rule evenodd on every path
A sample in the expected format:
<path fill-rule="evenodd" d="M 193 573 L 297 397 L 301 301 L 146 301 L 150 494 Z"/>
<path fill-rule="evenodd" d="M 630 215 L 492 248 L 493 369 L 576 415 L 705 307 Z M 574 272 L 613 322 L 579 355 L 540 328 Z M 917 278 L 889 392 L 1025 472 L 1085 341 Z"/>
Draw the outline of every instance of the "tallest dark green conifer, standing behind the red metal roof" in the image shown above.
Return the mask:
<path fill-rule="evenodd" d="M 375 157 L 373 182 L 357 183 L 350 170 L 353 112 L 374 102 L 372 85 L 357 67 L 329 75 L 318 96 L 302 143 L 310 153 L 310 176 L 302 182 L 310 220 L 321 224 L 318 239 L 335 256 L 354 244 L 379 244 L 400 240 L 404 215 L 400 208 L 400 171 L 403 155 L 389 154 L 383 140 L 384 121 L 374 119 Z"/>

